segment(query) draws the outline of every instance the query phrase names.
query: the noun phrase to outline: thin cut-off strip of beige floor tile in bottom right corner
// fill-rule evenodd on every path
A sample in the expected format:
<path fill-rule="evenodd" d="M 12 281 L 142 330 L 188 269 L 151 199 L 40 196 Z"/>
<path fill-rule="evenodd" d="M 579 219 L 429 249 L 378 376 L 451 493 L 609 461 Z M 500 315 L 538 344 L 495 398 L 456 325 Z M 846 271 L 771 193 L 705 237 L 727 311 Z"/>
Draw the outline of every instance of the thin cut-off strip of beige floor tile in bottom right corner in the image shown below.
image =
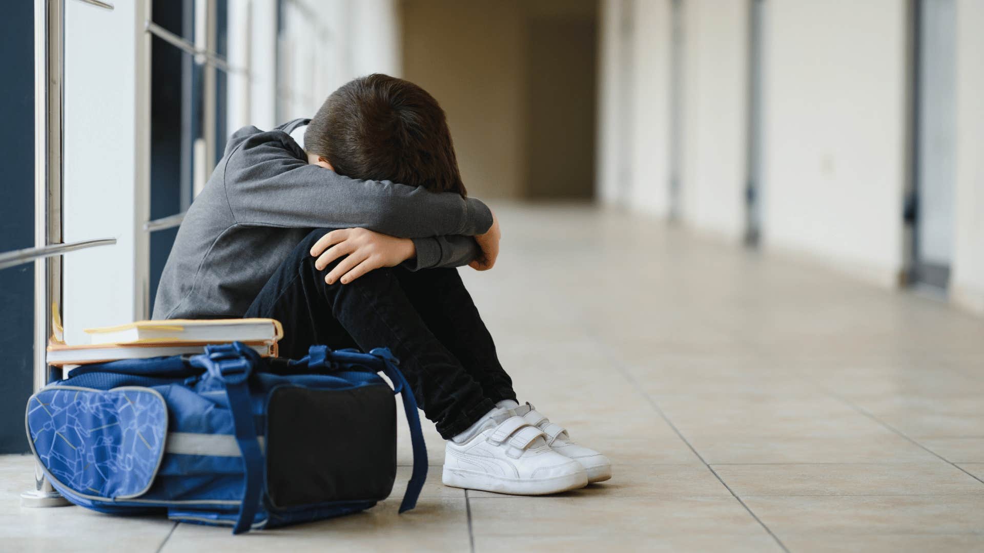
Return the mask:
<path fill-rule="evenodd" d="M 795 553 L 925 553 L 982 551 L 984 534 L 830 535 L 784 534 L 783 545 Z"/>

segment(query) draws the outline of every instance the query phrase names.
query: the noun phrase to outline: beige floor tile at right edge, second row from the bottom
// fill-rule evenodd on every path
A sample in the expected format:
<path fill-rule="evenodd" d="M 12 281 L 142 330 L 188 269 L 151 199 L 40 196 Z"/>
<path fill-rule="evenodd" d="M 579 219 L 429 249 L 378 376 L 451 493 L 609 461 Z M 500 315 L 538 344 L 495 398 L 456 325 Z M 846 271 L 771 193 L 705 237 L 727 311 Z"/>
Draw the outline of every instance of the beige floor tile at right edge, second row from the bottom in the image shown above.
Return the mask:
<path fill-rule="evenodd" d="M 779 539 L 787 533 L 971 533 L 984 529 L 984 496 L 748 497 Z"/>

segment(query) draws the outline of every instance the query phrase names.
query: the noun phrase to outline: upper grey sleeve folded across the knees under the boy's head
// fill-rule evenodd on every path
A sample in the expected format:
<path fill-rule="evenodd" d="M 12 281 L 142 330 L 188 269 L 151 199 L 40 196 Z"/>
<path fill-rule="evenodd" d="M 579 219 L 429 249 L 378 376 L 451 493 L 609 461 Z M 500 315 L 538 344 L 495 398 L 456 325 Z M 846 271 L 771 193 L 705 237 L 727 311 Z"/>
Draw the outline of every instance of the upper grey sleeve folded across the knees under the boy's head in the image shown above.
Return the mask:
<path fill-rule="evenodd" d="M 222 185 L 239 223 L 360 226 L 401 238 L 470 236 L 492 226 L 489 209 L 473 198 L 387 180 L 351 179 L 309 164 L 282 131 L 241 129 L 230 137 L 227 148 Z"/>

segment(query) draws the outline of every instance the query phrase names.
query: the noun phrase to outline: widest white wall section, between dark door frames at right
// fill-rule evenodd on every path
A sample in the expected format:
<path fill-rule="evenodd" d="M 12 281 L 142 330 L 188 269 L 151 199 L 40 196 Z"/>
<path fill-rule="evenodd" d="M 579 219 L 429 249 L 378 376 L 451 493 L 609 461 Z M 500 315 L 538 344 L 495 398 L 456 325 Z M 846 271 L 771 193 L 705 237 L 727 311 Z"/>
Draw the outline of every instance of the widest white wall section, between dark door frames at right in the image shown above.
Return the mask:
<path fill-rule="evenodd" d="M 764 242 L 894 285 L 902 268 L 906 4 L 769 0 Z"/>

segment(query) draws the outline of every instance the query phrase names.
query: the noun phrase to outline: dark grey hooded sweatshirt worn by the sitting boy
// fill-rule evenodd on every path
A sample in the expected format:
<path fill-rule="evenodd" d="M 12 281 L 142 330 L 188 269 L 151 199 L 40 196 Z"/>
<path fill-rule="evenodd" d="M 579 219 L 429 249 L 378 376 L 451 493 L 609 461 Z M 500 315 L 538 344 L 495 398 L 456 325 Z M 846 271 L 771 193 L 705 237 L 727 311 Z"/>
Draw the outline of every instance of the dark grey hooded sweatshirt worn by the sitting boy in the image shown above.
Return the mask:
<path fill-rule="evenodd" d="M 479 250 L 471 236 L 492 225 L 484 204 L 309 164 L 290 138 L 308 121 L 232 134 L 178 229 L 157 287 L 154 319 L 242 317 L 314 228 L 361 226 L 412 238 L 416 258 L 404 263 L 412 271 L 475 259 Z"/>

